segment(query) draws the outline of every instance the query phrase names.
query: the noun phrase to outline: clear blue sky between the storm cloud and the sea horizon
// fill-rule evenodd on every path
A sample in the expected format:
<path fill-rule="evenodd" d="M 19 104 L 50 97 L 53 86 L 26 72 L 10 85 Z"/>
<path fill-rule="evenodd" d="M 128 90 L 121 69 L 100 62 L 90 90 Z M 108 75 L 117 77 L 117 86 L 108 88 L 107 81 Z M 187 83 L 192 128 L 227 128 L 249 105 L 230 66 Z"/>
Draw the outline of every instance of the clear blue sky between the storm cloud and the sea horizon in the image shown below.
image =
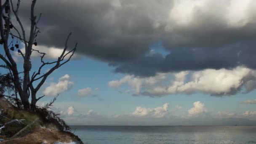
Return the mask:
<path fill-rule="evenodd" d="M 161 53 L 163 53 L 163 51 L 161 51 Z M 33 71 L 36 69 L 36 66 L 40 65 L 40 60 L 36 57 L 32 60 L 34 62 L 33 66 L 35 66 L 32 69 Z M 47 60 L 51 61 L 52 59 Z M 21 62 L 22 61 L 18 61 L 19 66 L 22 64 Z M 21 69 L 21 67 L 19 68 Z M 48 68 L 45 68 L 43 71 L 46 71 L 47 69 Z M 175 73 L 173 72 L 173 74 Z M 51 83 L 58 83 L 59 78 L 63 77 L 64 75 L 69 75 L 68 81 L 74 83 L 74 85 L 72 88 L 59 93 L 59 97 L 54 104 L 53 110 L 62 113 L 62 115 L 67 118 L 67 122 L 73 125 L 107 125 L 115 123 L 117 123 L 117 125 L 118 123 L 125 125 L 122 123 L 123 120 L 116 122 L 115 120 L 112 120 L 113 117 L 115 117 L 115 115 L 120 115 L 119 117 L 133 117 L 132 113 L 136 110 L 136 107 L 156 108 L 162 107 L 165 103 L 169 104 L 168 112 L 170 113 L 166 113 L 165 116 L 160 117 L 159 120 L 155 120 L 154 117 L 148 115 L 149 121 L 150 119 L 154 119 L 153 122 L 149 122 L 148 125 L 161 125 L 161 123 L 165 124 L 165 122 L 162 122 L 162 120 L 164 118 L 168 120 L 168 117 L 171 115 L 179 117 L 180 119 L 190 119 L 191 117 L 186 116 L 188 115 L 188 110 L 193 107 L 193 103 L 195 101 L 200 101 L 202 104 L 204 104 L 204 108 L 207 109 L 205 114 L 207 113 L 214 118 L 218 117 L 218 112 L 229 112 L 235 113 L 236 115 L 242 115 L 246 111 L 253 112 L 255 110 L 255 105 L 240 104 L 240 101 L 255 99 L 256 91 L 251 91 L 250 93 L 239 92 L 231 96 L 211 96 L 208 93 L 202 92 L 192 94 L 175 93 L 156 97 L 133 96 L 133 93 L 128 91 L 132 90 L 133 88 L 129 87 L 127 84 L 122 85 L 119 88 L 111 88 L 108 85 L 108 83 L 112 80 L 122 79 L 126 76 L 125 74 L 117 74 L 113 72 L 113 67 L 109 67 L 107 63 L 91 59 L 86 56 L 80 57 L 79 59 L 73 59 L 63 67 L 53 72 L 53 74 L 48 77 L 48 80 L 43 85 L 38 95 L 44 95 L 45 93 L 43 91 L 45 91 L 45 88 L 49 87 Z M 168 81 L 173 80 L 174 76 L 171 75 L 170 77 L 167 77 L 163 83 L 169 83 Z M 185 81 L 189 81 L 189 79 Z M 92 91 L 85 96 L 79 96 L 78 91 L 83 88 L 91 88 Z M 53 99 L 53 96 L 56 95 L 46 95 L 39 101 L 38 104 L 46 104 L 48 101 Z M 67 115 L 69 107 L 74 108 L 72 115 Z M 177 109 L 177 107 L 180 108 Z M 81 122 L 80 115 L 86 115 L 90 110 L 93 110 L 91 115 L 94 116 L 84 118 L 85 120 Z M 205 114 L 202 113 L 202 115 L 200 114 L 199 117 Z M 71 117 L 75 118 L 72 119 Z M 99 119 L 99 117 L 104 117 L 104 119 L 109 121 L 107 121 L 107 123 L 104 121 L 94 123 L 93 119 Z M 71 118 L 71 120 L 69 118 Z M 143 119 L 143 117 L 141 117 L 141 119 Z M 141 124 L 139 120 L 132 121 L 134 122 L 127 123 L 127 125 Z"/>

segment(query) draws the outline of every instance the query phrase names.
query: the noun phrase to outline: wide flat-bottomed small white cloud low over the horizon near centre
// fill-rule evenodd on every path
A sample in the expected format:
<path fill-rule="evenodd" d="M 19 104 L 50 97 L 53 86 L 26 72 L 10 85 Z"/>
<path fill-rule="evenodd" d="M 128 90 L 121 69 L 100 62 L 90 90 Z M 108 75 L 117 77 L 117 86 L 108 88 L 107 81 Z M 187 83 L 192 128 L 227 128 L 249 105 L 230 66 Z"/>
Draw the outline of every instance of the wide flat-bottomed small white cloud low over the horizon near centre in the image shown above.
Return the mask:
<path fill-rule="evenodd" d="M 161 118 L 165 117 L 168 113 L 169 104 L 163 104 L 163 107 L 156 107 L 156 108 L 143 108 L 143 107 L 136 107 L 135 111 L 131 113 L 133 116 L 139 117 L 156 117 Z"/>

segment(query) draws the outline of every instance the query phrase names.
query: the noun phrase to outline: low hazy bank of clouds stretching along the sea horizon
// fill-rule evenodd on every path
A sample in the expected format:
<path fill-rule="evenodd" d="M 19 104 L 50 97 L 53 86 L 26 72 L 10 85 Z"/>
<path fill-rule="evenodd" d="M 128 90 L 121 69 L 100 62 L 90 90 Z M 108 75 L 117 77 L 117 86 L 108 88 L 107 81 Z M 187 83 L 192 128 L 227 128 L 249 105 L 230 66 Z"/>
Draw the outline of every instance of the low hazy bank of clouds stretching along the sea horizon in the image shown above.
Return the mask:
<path fill-rule="evenodd" d="M 179 109 L 170 107 L 168 103 L 161 107 L 136 107 L 134 112 L 105 115 L 98 114 L 93 109 L 83 112 L 69 106 L 61 111 L 61 116 L 70 124 L 75 125 L 255 125 L 256 112 L 213 112 L 208 111 L 202 101 L 192 103 L 193 107 L 186 109 L 184 114 L 175 113 Z M 174 111 L 171 111 L 174 109 Z"/>

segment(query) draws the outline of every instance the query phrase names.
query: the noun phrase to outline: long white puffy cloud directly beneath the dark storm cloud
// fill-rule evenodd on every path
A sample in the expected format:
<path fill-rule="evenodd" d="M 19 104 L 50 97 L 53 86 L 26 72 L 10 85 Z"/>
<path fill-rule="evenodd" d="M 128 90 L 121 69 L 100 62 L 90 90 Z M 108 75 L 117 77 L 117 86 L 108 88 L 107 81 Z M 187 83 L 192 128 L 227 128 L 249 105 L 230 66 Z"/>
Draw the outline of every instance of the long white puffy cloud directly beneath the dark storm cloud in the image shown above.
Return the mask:
<path fill-rule="evenodd" d="M 155 77 L 138 78 L 131 75 L 120 80 L 110 81 L 110 87 L 120 87 L 128 84 L 135 88 L 135 94 L 148 96 L 163 96 L 168 94 L 197 92 L 208 93 L 215 96 L 232 95 L 245 88 L 250 92 L 256 88 L 256 73 L 254 70 L 237 67 L 235 69 L 205 69 L 202 71 L 179 72 L 176 74 L 161 73 Z M 168 76 L 175 78 L 168 85 L 165 84 Z M 144 91 L 141 91 L 144 88 Z"/>

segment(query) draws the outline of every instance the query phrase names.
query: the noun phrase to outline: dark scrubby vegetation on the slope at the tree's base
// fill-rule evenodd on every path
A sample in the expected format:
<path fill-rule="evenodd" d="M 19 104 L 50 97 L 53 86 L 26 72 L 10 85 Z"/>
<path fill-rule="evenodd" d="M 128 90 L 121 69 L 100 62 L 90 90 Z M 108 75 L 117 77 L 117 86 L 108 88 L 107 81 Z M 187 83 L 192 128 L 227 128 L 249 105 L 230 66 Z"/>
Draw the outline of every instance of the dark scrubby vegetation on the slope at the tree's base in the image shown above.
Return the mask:
<path fill-rule="evenodd" d="M 5 99 L 5 97 L 0 97 L 0 109 L 4 109 L 2 115 L 0 115 L 0 124 L 7 123 L 15 119 L 23 120 L 23 124 L 14 122 L 6 125 L 6 128 L 3 128 L 0 133 L 0 138 L 11 138 L 14 134 L 21 131 L 21 129 L 34 122 L 37 118 L 39 120 L 26 128 L 25 131 L 22 131 L 19 136 L 31 133 L 32 131 L 40 128 L 40 125 L 45 126 L 48 124 L 55 126 L 60 131 L 69 131 L 69 126 L 59 117 L 59 114 L 49 110 L 55 100 L 56 98 L 46 104 L 45 107 L 37 107 L 34 111 L 27 111 L 22 108 L 15 107 L 15 104 L 12 104 L 10 101 Z"/>

